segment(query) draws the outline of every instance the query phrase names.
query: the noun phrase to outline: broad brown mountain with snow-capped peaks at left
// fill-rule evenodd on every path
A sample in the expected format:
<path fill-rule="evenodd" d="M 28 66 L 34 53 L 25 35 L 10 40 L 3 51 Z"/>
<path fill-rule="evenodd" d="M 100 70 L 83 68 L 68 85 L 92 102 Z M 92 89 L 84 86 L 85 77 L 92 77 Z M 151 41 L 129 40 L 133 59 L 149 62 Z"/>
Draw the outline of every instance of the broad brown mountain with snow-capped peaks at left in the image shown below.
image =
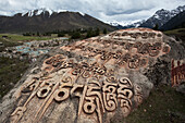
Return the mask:
<path fill-rule="evenodd" d="M 0 16 L 0 33 L 51 32 L 89 27 L 115 29 L 115 27 L 81 12 L 55 12 L 49 9 L 39 9 L 17 13 L 13 16 Z"/>

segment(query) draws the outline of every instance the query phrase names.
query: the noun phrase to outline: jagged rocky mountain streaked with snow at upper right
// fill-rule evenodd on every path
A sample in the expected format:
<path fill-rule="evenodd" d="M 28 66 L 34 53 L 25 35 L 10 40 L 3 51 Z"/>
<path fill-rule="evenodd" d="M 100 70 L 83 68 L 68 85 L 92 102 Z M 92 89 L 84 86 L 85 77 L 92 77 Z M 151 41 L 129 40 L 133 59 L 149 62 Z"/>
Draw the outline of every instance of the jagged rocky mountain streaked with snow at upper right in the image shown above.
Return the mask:
<path fill-rule="evenodd" d="M 149 27 L 152 28 L 157 24 L 159 27 L 161 27 L 163 24 L 165 24 L 168 21 L 170 21 L 173 16 L 177 15 L 178 13 L 185 11 L 185 5 L 178 7 L 174 10 L 158 10 L 151 17 L 149 17 L 147 21 L 141 23 L 140 27 Z"/>

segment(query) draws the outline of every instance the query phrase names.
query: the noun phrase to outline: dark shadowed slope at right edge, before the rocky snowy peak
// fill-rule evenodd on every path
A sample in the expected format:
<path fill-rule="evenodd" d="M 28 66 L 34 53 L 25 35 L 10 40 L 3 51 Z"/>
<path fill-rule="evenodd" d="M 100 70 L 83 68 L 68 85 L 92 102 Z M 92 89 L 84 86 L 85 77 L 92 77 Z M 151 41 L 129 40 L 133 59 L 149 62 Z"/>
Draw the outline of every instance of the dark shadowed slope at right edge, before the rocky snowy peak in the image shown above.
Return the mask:
<path fill-rule="evenodd" d="M 172 17 L 169 22 L 160 27 L 162 30 L 175 29 L 175 28 L 185 27 L 185 11 L 178 13 L 174 17 Z"/>

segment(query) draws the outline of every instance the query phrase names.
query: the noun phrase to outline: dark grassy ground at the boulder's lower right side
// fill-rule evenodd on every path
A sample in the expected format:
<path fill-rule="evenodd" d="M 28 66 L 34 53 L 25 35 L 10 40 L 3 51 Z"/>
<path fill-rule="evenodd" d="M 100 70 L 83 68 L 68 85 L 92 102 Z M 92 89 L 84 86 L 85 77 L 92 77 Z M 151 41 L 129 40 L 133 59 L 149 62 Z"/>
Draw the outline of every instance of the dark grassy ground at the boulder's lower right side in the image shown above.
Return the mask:
<path fill-rule="evenodd" d="M 160 85 L 132 112 L 125 123 L 185 123 L 185 96 Z"/>

